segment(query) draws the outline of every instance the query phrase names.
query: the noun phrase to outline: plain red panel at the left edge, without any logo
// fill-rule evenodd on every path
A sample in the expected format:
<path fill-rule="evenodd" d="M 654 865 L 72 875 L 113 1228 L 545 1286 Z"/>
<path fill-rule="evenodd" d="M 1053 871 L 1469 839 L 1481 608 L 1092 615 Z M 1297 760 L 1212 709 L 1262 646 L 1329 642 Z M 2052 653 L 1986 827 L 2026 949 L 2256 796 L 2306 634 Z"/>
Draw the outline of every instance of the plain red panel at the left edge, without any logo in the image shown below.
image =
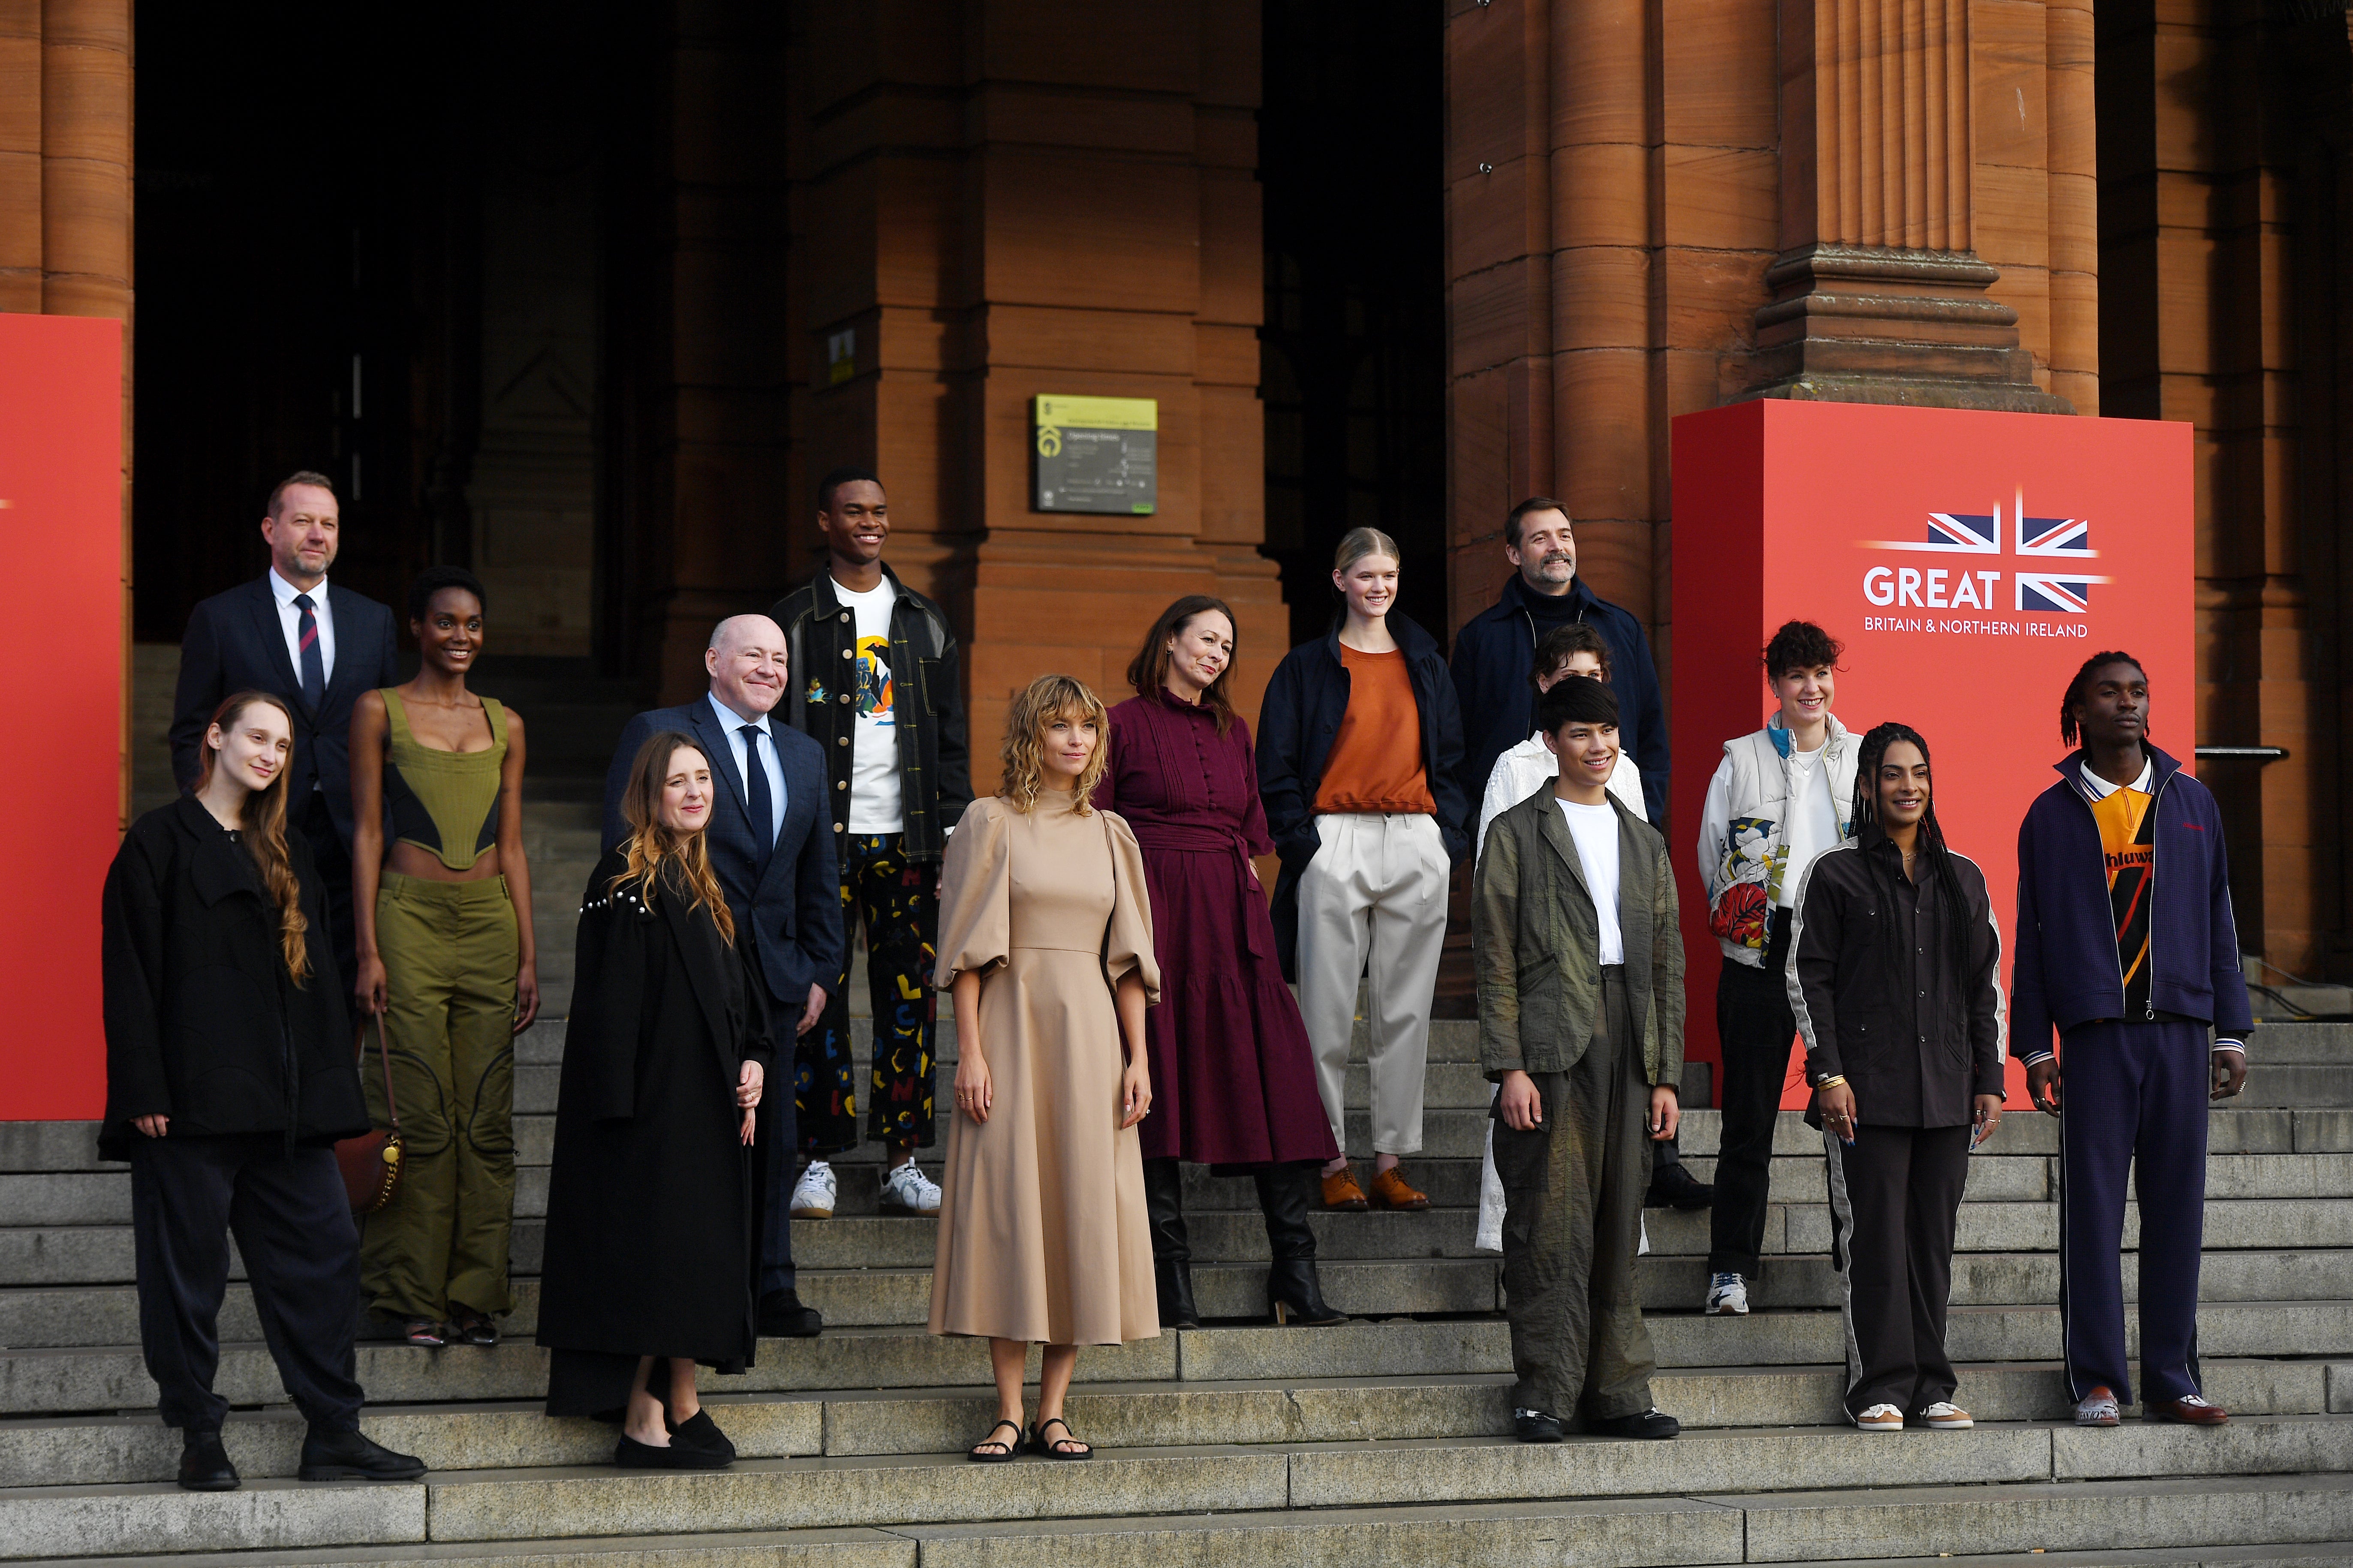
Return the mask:
<path fill-rule="evenodd" d="M 0 1121 L 106 1107 L 99 891 L 120 844 L 122 324 L 0 315 L 0 691 L 31 748 L 0 769 Z"/>

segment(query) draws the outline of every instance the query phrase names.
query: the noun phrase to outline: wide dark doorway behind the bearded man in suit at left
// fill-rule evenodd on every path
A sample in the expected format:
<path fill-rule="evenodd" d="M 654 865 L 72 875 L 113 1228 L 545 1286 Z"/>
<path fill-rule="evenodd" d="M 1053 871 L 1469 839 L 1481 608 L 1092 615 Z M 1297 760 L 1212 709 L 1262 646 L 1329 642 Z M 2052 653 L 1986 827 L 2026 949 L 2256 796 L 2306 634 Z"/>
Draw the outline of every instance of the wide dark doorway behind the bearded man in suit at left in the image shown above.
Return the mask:
<path fill-rule="evenodd" d="M 496 654 L 586 658 L 609 31 L 553 0 L 139 24 L 134 635 L 256 576 L 308 468 L 334 583 L 400 604 L 468 564 Z"/>

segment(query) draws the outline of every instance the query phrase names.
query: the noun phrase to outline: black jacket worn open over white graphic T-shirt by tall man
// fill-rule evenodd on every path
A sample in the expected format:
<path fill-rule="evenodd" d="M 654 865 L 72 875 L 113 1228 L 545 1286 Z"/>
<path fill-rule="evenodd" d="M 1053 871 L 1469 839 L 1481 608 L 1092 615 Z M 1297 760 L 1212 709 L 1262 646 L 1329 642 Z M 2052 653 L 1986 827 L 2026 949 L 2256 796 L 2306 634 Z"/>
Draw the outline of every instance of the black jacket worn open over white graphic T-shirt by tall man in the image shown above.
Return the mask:
<path fill-rule="evenodd" d="M 901 853 L 939 860 L 948 830 L 972 804 L 972 757 L 965 743 L 965 677 L 948 611 L 899 581 L 889 607 L 892 729 L 899 738 Z M 856 755 L 859 618 L 833 595 L 833 574 L 776 599 L 767 618 L 784 628 L 791 668 L 776 717 L 826 748 L 826 799 L 849 799 Z M 849 811 L 835 804 L 833 863 L 849 867 Z"/>

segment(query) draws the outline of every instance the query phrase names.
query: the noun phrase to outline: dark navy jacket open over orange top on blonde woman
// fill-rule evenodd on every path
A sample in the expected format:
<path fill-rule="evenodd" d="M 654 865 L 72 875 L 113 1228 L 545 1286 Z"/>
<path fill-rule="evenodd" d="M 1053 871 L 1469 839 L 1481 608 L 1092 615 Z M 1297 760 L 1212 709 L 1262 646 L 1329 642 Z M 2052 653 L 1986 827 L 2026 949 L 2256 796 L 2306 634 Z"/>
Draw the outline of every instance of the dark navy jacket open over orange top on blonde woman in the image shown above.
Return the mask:
<path fill-rule="evenodd" d="M 1348 670 L 1339 661 L 1339 621 L 1315 642 L 1301 642 L 1282 656 L 1266 682 L 1259 703 L 1259 799 L 1266 806 L 1266 832 L 1282 856 L 1275 879 L 1275 952 L 1282 978 L 1299 978 L 1299 872 L 1315 858 L 1315 788 L 1332 759 L 1332 738 L 1348 712 Z M 1405 672 L 1414 682 L 1414 708 L 1421 712 L 1421 771 L 1438 806 L 1438 832 L 1447 856 L 1461 860 L 1471 849 L 1471 813 L 1461 788 L 1464 719 L 1454 705 L 1454 682 L 1438 639 L 1405 616 L 1388 618 L 1388 635 L 1405 654 Z M 1520 741 L 1525 736 L 1515 736 Z"/>

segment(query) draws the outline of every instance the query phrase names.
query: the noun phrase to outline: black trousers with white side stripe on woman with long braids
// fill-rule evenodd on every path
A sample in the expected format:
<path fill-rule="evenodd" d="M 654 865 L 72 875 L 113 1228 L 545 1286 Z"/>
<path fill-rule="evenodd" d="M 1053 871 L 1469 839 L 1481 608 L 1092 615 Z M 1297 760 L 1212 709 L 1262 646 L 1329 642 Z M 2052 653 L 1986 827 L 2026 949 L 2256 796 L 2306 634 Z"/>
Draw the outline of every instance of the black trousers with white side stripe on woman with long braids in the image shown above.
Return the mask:
<path fill-rule="evenodd" d="M 1868 1114 L 1868 1112 L 1866 1112 Z M 1918 1418 L 1960 1380 L 1944 1352 L 1953 1227 L 1969 1185 L 1969 1126 L 1854 1128 L 1831 1152 L 1831 1265 L 1845 1286 L 1847 1415 L 1889 1403 Z"/>

